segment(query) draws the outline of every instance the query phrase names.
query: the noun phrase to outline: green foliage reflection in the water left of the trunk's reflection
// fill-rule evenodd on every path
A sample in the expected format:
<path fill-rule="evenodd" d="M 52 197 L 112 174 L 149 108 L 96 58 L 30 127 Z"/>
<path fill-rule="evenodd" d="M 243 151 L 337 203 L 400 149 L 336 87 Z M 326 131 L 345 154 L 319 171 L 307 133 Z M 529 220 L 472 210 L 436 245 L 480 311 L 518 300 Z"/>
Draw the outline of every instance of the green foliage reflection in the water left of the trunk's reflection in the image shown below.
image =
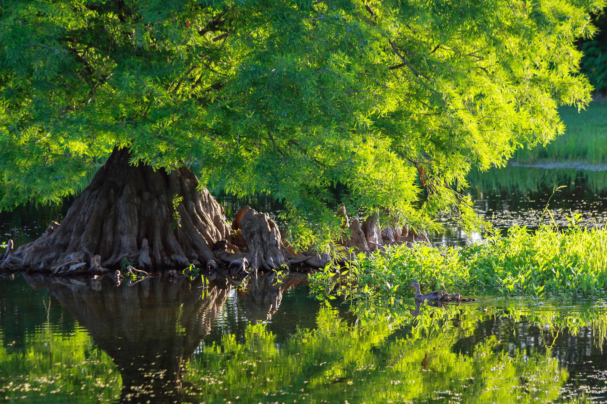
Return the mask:
<path fill-rule="evenodd" d="M 0 340 L 4 340 L 2 334 Z M 0 345 L 1 398 L 98 403 L 120 397 L 118 369 L 86 331 L 65 335 L 47 323 L 44 331 L 25 337 L 24 343 L 22 349 Z"/>

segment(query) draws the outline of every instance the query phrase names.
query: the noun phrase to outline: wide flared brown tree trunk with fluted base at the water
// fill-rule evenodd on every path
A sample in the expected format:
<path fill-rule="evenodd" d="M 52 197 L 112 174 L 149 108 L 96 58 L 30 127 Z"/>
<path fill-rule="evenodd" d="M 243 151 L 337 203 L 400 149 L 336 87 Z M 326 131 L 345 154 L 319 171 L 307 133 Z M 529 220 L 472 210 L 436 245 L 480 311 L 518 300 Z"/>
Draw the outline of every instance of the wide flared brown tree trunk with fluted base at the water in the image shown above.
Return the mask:
<path fill-rule="evenodd" d="M 63 222 L 39 239 L 5 254 L 13 267 L 42 273 L 83 273 L 120 268 L 185 268 L 215 258 L 213 247 L 229 240 L 223 208 L 188 168 L 168 173 L 129 164 L 115 149 Z M 98 260 L 95 259 L 99 256 Z"/>

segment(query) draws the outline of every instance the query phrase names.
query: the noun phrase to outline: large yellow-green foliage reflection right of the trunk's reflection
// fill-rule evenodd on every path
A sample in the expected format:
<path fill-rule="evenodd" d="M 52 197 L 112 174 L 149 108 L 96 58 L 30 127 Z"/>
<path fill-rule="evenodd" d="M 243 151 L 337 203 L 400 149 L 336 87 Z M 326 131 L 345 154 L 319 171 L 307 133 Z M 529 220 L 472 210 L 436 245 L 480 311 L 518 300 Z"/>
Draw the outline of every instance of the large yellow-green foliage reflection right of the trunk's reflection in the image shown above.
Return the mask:
<path fill-rule="evenodd" d="M 441 314 L 438 317 L 441 317 Z M 443 311 L 447 319 L 459 310 Z M 277 346 L 263 325 L 249 326 L 245 341 L 224 336 L 189 363 L 188 380 L 203 381 L 206 401 L 223 402 L 409 402 L 465 396 L 469 403 L 554 400 L 566 371 L 549 356 L 517 351 L 510 356 L 489 337 L 472 355 L 453 353 L 483 315 L 452 326 L 427 312 L 406 337 L 385 321 L 350 326 L 331 308 L 320 310 L 316 329 L 300 330 Z M 411 320 L 411 317 L 408 317 Z M 424 323 L 429 326 L 424 326 Z M 381 386 L 381 388 L 378 388 Z M 212 397 L 212 398 L 210 398 Z"/>

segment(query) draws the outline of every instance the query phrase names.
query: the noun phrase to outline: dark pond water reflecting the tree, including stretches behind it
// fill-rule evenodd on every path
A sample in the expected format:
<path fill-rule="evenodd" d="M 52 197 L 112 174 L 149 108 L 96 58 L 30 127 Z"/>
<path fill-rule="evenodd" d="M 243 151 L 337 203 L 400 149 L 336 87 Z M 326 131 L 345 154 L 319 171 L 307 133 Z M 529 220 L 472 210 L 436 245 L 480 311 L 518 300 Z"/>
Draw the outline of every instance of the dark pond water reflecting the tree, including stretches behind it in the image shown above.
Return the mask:
<path fill-rule="evenodd" d="M 507 167 L 472 174 L 470 196 L 498 229 L 537 227 L 547 204 L 543 220 L 566 225 L 571 210 L 602 227 L 606 173 Z M 220 201 L 228 216 L 245 204 L 279 208 L 263 197 Z M 35 239 L 69 204 L 0 213 L 0 234 L 18 245 Z M 443 220 L 435 244 L 482 239 Z M 309 295 L 297 274 L 120 286 L 0 276 L 0 401 L 607 403 L 604 301 L 410 299 L 374 318 Z"/>

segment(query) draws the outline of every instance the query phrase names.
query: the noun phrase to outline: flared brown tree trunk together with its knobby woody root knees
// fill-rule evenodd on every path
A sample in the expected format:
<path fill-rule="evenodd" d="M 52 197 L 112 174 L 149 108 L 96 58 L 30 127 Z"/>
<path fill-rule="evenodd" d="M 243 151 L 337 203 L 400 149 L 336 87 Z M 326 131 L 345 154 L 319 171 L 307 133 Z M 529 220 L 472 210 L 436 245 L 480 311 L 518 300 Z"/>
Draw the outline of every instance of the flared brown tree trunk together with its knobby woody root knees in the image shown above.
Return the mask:
<path fill-rule="evenodd" d="M 130 160 L 128 149 L 115 149 L 61 224 L 51 222 L 41 237 L 16 250 L 9 240 L 0 270 L 96 276 L 129 268 L 175 276 L 189 265 L 208 274 L 227 265 L 230 273 L 243 275 L 329 262 L 327 254 L 287 248 L 274 220 L 248 206 L 228 225 L 221 205 L 188 168 L 169 173 Z M 423 233 L 380 225 L 378 216 L 361 225 L 358 219 L 350 223 L 345 208 L 337 214 L 347 229 L 339 240 L 345 248 L 375 251 L 391 243 L 429 242 Z"/>

